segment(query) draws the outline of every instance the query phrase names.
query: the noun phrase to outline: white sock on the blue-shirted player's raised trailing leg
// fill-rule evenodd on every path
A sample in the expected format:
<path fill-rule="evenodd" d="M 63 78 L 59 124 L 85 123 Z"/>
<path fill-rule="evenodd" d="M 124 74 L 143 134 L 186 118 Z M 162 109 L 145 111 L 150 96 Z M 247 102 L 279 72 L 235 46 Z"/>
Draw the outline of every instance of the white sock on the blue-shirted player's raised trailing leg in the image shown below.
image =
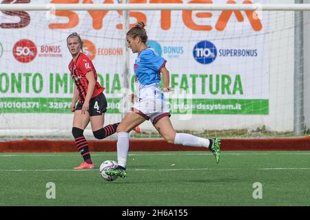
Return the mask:
<path fill-rule="evenodd" d="M 209 148 L 210 141 L 192 134 L 176 133 L 174 143 L 182 144 L 183 146 Z"/>

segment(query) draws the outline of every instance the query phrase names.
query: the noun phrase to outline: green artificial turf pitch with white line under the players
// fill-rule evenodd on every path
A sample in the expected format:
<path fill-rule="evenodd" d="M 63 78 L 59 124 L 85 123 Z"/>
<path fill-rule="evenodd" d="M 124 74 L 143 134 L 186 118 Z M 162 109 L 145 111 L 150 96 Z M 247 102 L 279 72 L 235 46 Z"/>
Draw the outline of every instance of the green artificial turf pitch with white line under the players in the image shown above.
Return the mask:
<path fill-rule="evenodd" d="M 207 151 L 130 152 L 128 177 L 105 181 L 99 166 L 116 158 L 92 152 L 96 168 L 76 171 L 77 152 L 1 153 L 0 206 L 310 206 L 308 151 L 225 151 L 219 165 Z"/>

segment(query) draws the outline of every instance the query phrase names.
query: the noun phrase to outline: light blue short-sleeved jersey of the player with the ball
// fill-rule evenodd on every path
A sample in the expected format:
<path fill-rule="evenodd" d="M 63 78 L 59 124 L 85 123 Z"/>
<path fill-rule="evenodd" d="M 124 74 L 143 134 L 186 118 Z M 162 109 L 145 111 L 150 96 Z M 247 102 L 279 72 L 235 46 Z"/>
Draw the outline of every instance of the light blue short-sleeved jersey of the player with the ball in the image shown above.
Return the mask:
<path fill-rule="evenodd" d="M 141 87 L 161 82 L 161 68 L 166 60 L 159 57 L 152 48 L 146 48 L 136 58 L 134 73 Z"/>

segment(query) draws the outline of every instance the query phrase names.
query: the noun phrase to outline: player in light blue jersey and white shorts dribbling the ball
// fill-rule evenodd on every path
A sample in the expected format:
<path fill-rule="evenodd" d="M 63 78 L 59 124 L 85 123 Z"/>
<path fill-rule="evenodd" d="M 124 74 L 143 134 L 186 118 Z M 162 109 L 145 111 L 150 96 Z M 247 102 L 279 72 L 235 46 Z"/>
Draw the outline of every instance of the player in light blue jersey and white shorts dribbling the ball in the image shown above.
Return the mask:
<path fill-rule="evenodd" d="M 147 48 L 147 34 L 143 21 L 127 32 L 127 47 L 133 53 L 138 53 L 134 63 L 136 75 L 137 97 L 130 112 L 127 112 L 116 130 L 118 166 L 106 171 L 110 176 L 126 177 L 125 170 L 127 153 L 129 150 L 129 132 L 145 120 L 151 120 L 154 127 L 168 143 L 182 144 L 183 146 L 209 148 L 220 161 L 220 140 L 203 139 L 192 134 L 177 133 L 169 119 L 163 92 L 169 92 L 169 71 L 165 68 L 166 60 L 158 57 L 152 48 Z M 163 74 L 163 89 L 159 88 Z"/>

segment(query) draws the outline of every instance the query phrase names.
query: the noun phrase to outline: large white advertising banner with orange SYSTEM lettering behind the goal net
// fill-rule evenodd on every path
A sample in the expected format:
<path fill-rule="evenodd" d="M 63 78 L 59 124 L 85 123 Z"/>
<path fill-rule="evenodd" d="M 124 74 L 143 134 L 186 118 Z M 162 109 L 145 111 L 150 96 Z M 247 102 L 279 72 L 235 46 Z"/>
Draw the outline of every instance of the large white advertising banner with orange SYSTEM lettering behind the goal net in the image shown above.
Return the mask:
<path fill-rule="evenodd" d="M 104 1 L 117 3 L 117 1 Z M 269 3 L 244 0 L 133 3 Z M 5 0 L 1 3 L 103 3 L 94 0 Z M 78 32 L 105 87 L 108 112 L 120 112 L 123 17 L 117 11 L 23 11 L 0 15 L 1 112 L 70 112 L 72 59 L 66 38 Z M 130 11 L 144 21 L 148 46 L 167 60 L 169 108 L 183 114 L 269 114 L 268 16 L 245 11 Z M 130 54 L 130 89 L 134 59 Z"/>

